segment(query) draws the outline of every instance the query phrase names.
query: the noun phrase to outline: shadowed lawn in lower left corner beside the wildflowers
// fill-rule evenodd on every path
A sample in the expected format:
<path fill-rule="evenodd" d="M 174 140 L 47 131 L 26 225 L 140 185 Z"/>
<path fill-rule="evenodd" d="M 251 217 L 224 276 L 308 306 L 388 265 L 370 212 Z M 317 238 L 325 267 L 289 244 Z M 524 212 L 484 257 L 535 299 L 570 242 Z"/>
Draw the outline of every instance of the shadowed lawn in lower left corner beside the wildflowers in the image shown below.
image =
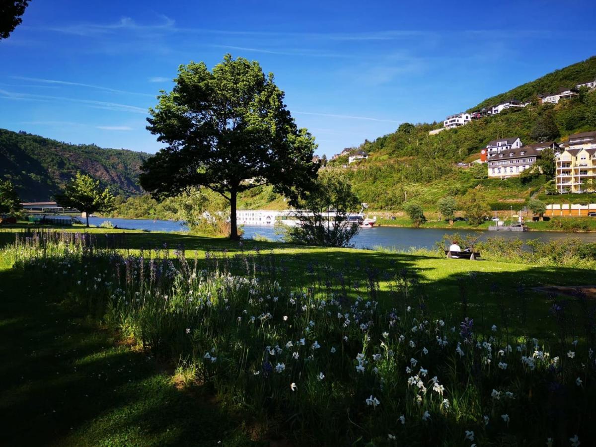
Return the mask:
<path fill-rule="evenodd" d="M 42 284 L 0 271 L 0 296 L 2 445 L 246 441 L 210 390 L 177 390 L 154 359 L 115 346 Z"/>

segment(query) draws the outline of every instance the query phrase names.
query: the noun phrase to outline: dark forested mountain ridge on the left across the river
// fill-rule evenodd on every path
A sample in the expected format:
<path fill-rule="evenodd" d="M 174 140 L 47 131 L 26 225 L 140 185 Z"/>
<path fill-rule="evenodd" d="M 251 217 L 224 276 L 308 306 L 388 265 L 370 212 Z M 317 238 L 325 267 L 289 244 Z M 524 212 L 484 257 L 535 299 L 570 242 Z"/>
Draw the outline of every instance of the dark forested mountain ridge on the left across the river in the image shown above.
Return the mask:
<path fill-rule="evenodd" d="M 150 154 L 69 144 L 43 136 L 0 129 L 0 178 L 10 179 L 24 201 L 45 201 L 77 171 L 122 195 L 141 194 L 138 175 Z"/>

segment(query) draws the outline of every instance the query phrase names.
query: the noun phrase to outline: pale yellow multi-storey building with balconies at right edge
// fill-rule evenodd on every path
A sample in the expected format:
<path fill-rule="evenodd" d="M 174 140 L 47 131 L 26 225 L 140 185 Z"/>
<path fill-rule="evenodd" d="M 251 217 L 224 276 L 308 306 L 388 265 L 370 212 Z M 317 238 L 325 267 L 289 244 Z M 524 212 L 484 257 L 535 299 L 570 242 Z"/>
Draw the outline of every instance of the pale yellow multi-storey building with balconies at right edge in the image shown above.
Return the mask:
<path fill-rule="evenodd" d="M 596 190 L 596 145 L 589 149 L 579 145 L 575 149 L 567 148 L 555 156 L 555 168 L 558 193 L 585 193 Z"/>

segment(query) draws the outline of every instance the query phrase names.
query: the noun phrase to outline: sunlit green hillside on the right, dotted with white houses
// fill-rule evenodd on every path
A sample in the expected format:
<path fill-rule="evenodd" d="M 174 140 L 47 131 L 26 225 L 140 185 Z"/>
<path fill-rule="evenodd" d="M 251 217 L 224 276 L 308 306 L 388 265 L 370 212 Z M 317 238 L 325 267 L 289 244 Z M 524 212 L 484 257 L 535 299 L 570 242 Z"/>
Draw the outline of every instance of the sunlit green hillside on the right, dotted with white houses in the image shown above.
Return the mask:
<path fill-rule="evenodd" d="M 591 58 L 520 86 L 519 91 L 528 89 L 529 85 L 534 86 L 532 91 L 541 91 L 543 86 L 550 88 L 563 79 L 573 83 L 596 77 L 594 67 L 596 58 Z M 497 98 L 508 98 L 511 92 L 481 104 L 496 104 Z M 521 94 L 519 98 L 526 99 Z M 396 132 L 354 148 L 354 151 L 367 151 L 368 160 L 343 167 L 347 165 L 347 155 L 344 155 L 330 162 L 328 169 L 342 169 L 352 179 L 362 201 L 373 209 L 400 209 L 406 201 L 434 207 L 443 195 L 461 196 L 472 189 L 480 191 L 493 209 L 509 209 L 527 200 L 548 179 L 539 175 L 488 179 L 486 164 L 462 169 L 457 163 L 478 159 L 480 150 L 492 139 L 520 136 L 524 144 L 530 144 L 552 139 L 561 141 L 575 132 L 596 130 L 596 89 L 582 91 L 579 98 L 562 100 L 556 105 L 536 103 L 511 108 L 429 135 L 430 130 L 439 127 L 404 123 Z"/>

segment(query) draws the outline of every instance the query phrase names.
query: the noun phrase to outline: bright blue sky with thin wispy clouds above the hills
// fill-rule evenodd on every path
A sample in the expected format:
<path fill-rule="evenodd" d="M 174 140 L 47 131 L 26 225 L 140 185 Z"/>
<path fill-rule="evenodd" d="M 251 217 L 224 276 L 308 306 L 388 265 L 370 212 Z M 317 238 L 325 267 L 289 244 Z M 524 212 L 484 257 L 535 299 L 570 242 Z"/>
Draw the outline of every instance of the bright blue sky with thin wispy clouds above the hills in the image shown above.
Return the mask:
<path fill-rule="evenodd" d="M 596 54 L 592 1 L 33 0 L 0 41 L 0 127 L 155 152 L 179 64 L 258 60 L 330 156 Z"/>

